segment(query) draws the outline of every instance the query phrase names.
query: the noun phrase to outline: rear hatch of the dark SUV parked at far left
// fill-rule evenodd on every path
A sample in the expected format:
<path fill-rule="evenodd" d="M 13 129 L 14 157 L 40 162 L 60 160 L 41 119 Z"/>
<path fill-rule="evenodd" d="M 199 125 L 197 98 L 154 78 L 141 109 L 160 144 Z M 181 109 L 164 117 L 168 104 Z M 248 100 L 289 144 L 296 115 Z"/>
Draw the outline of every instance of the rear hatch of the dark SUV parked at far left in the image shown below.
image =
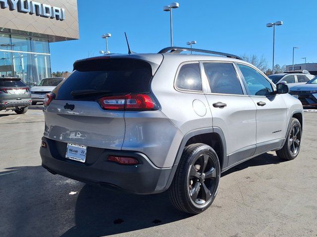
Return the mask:
<path fill-rule="evenodd" d="M 30 88 L 19 78 L 0 78 L 0 100 L 30 99 Z"/>

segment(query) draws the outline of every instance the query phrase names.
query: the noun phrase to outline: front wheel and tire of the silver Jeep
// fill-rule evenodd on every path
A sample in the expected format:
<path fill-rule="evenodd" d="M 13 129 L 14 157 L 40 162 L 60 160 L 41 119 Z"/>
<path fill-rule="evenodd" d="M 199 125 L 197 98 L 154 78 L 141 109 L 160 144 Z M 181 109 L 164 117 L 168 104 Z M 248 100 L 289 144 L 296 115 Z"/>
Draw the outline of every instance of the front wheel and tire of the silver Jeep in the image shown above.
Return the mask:
<path fill-rule="evenodd" d="M 292 160 L 295 159 L 301 149 L 302 126 L 297 118 L 292 118 L 290 129 L 287 132 L 286 142 L 281 150 L 276 151 L 279 158 Z"/>

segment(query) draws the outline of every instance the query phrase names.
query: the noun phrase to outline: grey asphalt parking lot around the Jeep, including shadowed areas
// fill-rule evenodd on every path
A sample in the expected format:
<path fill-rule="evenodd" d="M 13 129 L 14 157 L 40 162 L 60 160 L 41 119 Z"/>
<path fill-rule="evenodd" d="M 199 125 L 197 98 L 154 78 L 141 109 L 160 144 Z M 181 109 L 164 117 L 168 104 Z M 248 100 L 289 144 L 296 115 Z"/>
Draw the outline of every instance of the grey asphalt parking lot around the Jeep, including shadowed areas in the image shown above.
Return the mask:
<path fill-rule="evenodd" d="M 166 193 L 109 192 L 41 167 L 41 106 L 0 112 L 0 236 L 317 236 L 317 113 L 305 112 L 300 155 L 274 152 L 224 174 L 211 208 L 192 216 Z"/>

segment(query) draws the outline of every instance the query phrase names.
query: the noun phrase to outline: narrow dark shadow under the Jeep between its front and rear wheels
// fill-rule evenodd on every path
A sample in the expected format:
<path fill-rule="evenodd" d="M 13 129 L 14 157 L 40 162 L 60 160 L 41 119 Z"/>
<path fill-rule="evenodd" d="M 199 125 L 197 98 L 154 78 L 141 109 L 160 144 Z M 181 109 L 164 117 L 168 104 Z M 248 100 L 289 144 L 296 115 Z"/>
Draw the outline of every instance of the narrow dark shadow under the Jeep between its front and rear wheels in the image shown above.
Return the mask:
<path fill-rule="evenodd" d="M 282 163 L 285 161 L 287 161 L 287 160 L 279 158 L 275 154 L 273 155 L 273 154 L 269 154 L 269 153 L 264 153 L 261 156 L 244 161 L 243 163 L 238 164 L 237 166 L 234 166 L 231 169 L 223 172 L 221 174 L 221 177 L 228 175 L 228 174 L 231 174 L 233 172 L 251 167 L 251 166 L 259 166 L 259 165 L 267 165 L 267 164 L 279 164 L 279 163 Z"/>

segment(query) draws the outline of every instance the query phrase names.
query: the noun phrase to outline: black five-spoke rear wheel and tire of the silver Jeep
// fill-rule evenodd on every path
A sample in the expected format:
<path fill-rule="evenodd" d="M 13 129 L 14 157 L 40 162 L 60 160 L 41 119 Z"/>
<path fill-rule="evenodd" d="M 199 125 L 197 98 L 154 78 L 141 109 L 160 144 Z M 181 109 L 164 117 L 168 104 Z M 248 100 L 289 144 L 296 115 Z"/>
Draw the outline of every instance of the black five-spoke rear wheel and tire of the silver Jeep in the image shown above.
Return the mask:
<path fill-rule="evenodd" d="M 220 164 L 215 151 L 202 143 L 189 145 L 169 188 L 172 204 L 184 212 L 201 213 L 216 197 L 219 181 Z"/>

